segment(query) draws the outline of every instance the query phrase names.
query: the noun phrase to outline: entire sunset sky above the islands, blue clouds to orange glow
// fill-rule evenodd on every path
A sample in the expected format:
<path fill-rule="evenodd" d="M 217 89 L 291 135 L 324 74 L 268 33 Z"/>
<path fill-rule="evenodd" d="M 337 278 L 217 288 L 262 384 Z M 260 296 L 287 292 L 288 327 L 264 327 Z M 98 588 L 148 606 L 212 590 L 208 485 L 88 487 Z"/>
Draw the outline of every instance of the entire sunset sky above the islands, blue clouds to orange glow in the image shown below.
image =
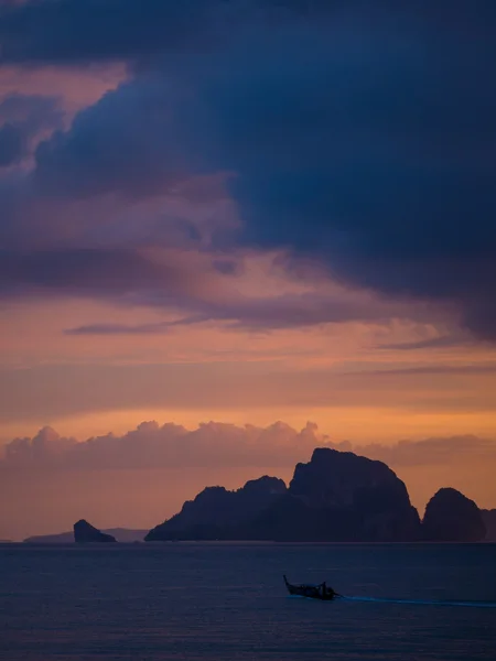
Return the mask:
<path fill-rule="evenodd" d="M 0 539 L 316 445 L 496 507 L 493 0 L 3 0 Z"/>

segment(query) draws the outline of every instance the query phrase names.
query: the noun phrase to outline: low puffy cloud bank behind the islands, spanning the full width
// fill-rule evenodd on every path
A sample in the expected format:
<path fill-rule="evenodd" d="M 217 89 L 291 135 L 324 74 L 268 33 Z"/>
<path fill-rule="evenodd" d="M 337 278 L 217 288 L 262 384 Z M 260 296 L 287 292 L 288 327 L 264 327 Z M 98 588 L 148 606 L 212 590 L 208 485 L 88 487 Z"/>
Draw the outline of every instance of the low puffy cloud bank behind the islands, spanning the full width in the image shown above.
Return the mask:
<path fill-rule="evenodd" d="M 142 422 L 122 436 L 107 434 L 84 442 L 44 427 L 33 437 L 14 438 L 4 447 L 4 469 L 155 469 L 293 467 L 317 446 L 355 452 L 392 467 L 496 460 L 496 442 L 477 436 L 401 441 L 393 445 L 333 443 L 308 423 L 301 431 L 277 422 L 267 427 L 218 422 L 187 430 L 173 423 Z"/>

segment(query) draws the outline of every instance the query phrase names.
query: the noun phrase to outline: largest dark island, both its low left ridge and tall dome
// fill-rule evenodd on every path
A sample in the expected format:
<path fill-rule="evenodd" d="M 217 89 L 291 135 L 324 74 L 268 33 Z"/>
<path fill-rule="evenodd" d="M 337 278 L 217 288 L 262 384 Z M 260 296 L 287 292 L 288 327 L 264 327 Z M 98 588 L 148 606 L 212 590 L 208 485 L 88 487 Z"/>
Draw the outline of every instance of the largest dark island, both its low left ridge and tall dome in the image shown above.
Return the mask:
<path fill-rule="evenodd" d="M 145 541 L 412 541 L 420 520 L 405 484 L 381 462 L 331 448 L 298 464 L 289 489 L 262 477 L 238 491 L 209 487 Z"/>

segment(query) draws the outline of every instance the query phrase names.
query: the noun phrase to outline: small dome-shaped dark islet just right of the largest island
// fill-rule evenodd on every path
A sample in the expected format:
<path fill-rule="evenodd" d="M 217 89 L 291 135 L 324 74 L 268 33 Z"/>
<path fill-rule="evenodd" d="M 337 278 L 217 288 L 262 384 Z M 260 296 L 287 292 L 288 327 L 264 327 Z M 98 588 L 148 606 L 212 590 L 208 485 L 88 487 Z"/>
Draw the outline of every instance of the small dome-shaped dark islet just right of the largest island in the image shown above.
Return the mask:
<path fill-rule="evenodd" d="M 478 542 L 485 538 L 481 510 L 456 489 L 440 489 L 428 502 L 423 539 L 435 542 Z"/>

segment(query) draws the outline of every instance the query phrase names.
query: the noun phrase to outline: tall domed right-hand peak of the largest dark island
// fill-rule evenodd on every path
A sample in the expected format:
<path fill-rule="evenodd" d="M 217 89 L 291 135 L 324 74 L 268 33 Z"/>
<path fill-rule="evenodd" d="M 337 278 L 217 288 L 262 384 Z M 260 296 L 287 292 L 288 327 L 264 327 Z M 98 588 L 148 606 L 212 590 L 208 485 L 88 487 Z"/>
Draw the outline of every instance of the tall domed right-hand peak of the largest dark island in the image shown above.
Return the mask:
<path fill-rule="evenodd" d="M 284 541 L 414 541 L 420 519 L 386 464 L 322 447 L 296 465 L 287 497 L 261 512 L 254 529 Z"/>

